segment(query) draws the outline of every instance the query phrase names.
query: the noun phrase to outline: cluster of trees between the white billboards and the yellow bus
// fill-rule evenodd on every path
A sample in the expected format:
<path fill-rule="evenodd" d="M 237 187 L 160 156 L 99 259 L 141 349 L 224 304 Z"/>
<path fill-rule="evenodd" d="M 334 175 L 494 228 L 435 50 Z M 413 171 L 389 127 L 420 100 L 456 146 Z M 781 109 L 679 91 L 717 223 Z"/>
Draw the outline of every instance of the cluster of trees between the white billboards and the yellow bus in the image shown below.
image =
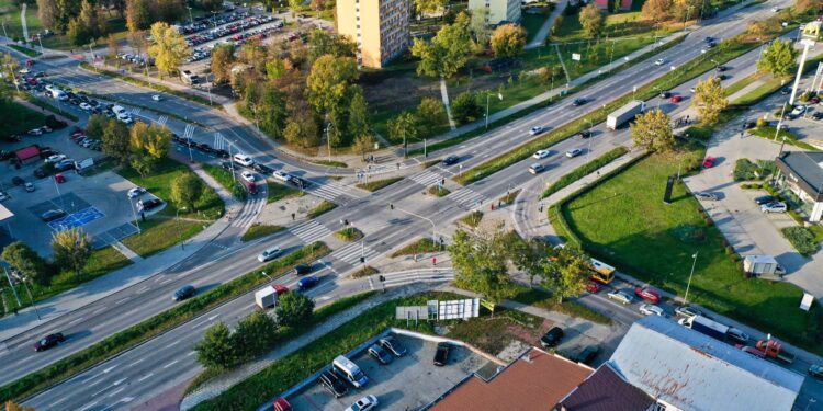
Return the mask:
<path fill-rule="evenodd" d="M 499 302 L 512 293 L 508 264 L 526 272 L 551 289 L 559 301 L 578 296 L 590 276 L 587 256 L 578 249 L 552 249 L 537 241 L 526 241 L 514 232 L 497 230 L 476 236 L 454 232 L 448 248 L 454 283 Z"/>

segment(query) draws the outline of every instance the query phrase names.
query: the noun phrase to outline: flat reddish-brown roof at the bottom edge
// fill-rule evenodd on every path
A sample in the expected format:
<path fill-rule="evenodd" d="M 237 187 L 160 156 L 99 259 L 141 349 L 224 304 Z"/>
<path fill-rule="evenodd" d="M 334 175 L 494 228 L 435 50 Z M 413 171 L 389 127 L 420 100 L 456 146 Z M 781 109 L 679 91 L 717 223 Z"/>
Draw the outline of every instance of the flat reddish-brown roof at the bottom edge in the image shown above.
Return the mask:
<path fill-rule="evenodd" d="M 591 373 L 585 365 L 531 349 L 488 381 L 466 379 L 430 409 L 545 411 Z"/>

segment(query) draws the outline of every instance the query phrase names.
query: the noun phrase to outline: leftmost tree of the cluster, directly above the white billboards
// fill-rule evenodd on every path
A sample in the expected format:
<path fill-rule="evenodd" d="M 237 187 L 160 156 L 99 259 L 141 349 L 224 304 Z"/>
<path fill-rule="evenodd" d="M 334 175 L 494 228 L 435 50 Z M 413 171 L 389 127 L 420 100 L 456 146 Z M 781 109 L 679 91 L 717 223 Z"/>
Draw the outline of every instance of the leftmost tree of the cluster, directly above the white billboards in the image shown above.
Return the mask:
<path fill-rule="evenodd" d="M 456 230 L 449 246 L 454 284 L 460 288 L 483 294 L 486 299 L 500 302 L 510 293 L 507 253 L 500 231 L 470 237 Z"/>

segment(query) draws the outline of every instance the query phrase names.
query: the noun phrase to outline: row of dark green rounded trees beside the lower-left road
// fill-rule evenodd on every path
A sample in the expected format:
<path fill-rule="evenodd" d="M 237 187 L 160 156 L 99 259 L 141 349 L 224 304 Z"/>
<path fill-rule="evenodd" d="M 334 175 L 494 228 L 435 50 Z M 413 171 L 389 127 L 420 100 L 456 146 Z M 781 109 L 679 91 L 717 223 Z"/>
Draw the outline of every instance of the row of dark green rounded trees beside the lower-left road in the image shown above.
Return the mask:
<path fill-rule="evenodd" d="M 198 362 L 210 369 L 229 369 L 271 351 L 280 327 L 306 324 L 314 312 L 314 301 L 300 293 L 286 293 L 278 299 L 275 322 L 263 311 L 256 311 L 232 331 L 224 322 L 206 330 L 194 346 Z"/>

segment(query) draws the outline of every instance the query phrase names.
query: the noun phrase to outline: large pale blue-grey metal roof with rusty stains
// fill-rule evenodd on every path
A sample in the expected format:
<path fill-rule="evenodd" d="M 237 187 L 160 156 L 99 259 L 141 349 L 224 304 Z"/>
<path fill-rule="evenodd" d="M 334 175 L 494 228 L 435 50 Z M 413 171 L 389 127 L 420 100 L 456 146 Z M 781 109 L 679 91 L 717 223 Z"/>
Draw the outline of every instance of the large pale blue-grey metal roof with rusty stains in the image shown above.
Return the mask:
<path fill-rule="evenodd" d="M 657 316 L 632 324 L 609 364 L 681 410 L 788 411 L 804 378 Z"/>

